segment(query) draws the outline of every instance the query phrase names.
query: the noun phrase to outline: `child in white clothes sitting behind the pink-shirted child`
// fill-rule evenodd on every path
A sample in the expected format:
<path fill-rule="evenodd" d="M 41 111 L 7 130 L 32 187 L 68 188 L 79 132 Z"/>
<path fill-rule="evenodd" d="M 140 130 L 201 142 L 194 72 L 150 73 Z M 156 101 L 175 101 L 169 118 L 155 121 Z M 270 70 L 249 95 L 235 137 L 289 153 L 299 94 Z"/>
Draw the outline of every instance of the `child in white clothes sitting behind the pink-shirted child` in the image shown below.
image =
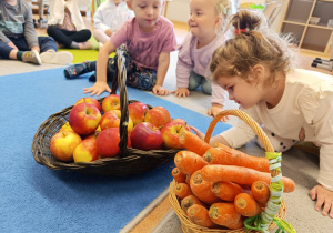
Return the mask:
<path fill-rule="evenodd" d="M 134 17 L 125 0 L 107 0 L 93 14 L 93 37 L 104 44 L 110 37 L 131 17 Z"/>

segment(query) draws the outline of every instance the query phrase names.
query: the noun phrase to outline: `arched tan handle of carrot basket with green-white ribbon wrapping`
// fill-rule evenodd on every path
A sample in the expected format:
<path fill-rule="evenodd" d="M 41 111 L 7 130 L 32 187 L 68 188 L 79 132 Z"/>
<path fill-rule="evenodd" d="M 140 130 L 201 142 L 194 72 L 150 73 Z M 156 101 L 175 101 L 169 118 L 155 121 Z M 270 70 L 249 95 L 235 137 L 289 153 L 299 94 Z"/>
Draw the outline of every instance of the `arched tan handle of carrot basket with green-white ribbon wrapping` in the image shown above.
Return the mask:
<path fill-rule="evenodd" d="M 220 120 L 226 115 L 235 115 L 239 116 L 241 120 L 243 120 L 249 126 L 251 126 L 251 129 L 255 132 L 255 134 L 258 135 L 258 138 L 260 139 L 260 141 L 262 142 L 264 149 L 265 149 L 265 155 L 269 159 L 269 163 L 270 163 L 270 170 L 271 170 L 271 185 L 270 189 L 272 191 L 272 184 L 273 183 L 282 183 L 280 178 L 282 175 L 281 170 L 280 170 L 280 162 L 281 162 L 281 153 L 274 153 L 274 149 L 270 142 L 270 140 L 268 139 L 266 134 L 263 132 L 263 130 L 261 129 L 261 126 L 250 116 L 248 115 L 245 112 L 241 111 L 241 110 L 234 110 L 234 109 L 230 109 L 230 110 L 224 110 L 221 111 L 218 115 L 215 115 L 215 118 L 211 121 L 209 129 L 205 133 L 205 138 L 204 141 L 206 143 L 209 143 L 212 132 L 216 125 L 218 122 L 220 122 Z M 280 178 L 276 178 L 280 176 Z M 276 181 L 275 181 L 276 180 Z M 263 212 L 263 214 L 261 214 L 260 216 L 263 217 L 263 223 L 261 224 L 261 229 L 268 229 L 269 223 L 273 220 L 273 217 L 276 215 L 280 206 L 281 206 L 281 196 L 282 196 L 282 192 L 283 192 L 283 184 L 281 185 L 281 189 L 279 190 L 279 192 L 276 192 L 276 194 L 274 194 L 274 196 L 272 197 L 272 195 L 270 195 L 270 200 L 269 202 L 272 203 L 272 205 L 270 207 L 272 207 L 271 210 L 268 210 L 270 207 L 266 207 L 265 211 Z"/>

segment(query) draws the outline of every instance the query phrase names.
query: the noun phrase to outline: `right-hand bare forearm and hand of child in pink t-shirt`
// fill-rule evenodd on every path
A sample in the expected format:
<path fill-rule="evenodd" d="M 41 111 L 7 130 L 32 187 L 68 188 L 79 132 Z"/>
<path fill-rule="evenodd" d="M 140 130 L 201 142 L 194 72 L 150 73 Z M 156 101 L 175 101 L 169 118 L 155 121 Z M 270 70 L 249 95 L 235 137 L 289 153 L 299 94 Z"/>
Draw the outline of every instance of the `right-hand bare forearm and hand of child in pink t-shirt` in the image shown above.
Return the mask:
<path fill-rule="evenodd" d="M 161 52 L 159 55 L 159 67 L 157 72 L 157 84 L 153 87 L 153 93 L 158 95 L 168 95 L 169 90 L 163 89 L 163 82 L 169 69 L 170 53 Z"/>

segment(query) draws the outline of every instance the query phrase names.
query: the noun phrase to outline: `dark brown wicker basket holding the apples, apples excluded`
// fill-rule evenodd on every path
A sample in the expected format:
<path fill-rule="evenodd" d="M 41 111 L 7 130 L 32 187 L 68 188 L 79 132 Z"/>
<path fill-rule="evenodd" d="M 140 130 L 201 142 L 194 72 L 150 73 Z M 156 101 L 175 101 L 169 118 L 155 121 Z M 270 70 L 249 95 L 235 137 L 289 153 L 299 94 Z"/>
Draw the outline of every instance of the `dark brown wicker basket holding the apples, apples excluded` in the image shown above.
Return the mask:
<path fill-rule="evenodd" d="M 151 150 L 142 151 L 133 148 L 127 148 L 128 144 L 128 126 L 129 111 L 128 104 L 135 102 L 137 100 L 128 100 L 128 92 L 125 87 L 125 68 L 124 58 L 121 51 L 117 51 L 118 54 L 118 72 L 114 77 L 118 77 L 112 82 L 112 92 L 115 93 L 119 87 L 120 90 L 120 143 L 121 154 L 115 158 L 104 158 L 93 162 L 80 162 L 80 163 L 65 163 L 57 160 L 50 151 L 51 138 L 59 132 L 60 128 L 68 122 L 71 107 L 65 108 L 61 112 L 54 113 L 49 116 L 38 129 L 34 134 L 31 151 L 34 160 L 42 165 L 46 165 L 52 170 L 67 170 L 77 171 L 84 174 L 97 174 L 97 175 L 130 175 L 142 173 L 167 162 L 173 160 L 174 155 L 179 150 Z M 99 99 L 102 103 L 103 98 Z M 149 105 L 149 108 L 152 108 Z"/>

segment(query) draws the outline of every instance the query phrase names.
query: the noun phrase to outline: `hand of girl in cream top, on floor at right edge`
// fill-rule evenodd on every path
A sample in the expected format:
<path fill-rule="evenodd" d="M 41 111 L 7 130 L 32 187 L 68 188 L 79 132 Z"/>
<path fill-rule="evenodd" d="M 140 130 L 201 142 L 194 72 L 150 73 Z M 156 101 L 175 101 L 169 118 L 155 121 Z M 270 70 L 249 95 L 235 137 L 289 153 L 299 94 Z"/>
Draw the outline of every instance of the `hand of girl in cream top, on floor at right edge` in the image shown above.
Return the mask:
<path fill-rule="evenodd" d="M 322 214 L 326 216 L 329 213 L 330 217 L 333 219 L 333 191 L 319 184 L 312 188 L 309 194 L 313 201 L 316 200 L 314 209 L 320 211 L 323 207 Z"/>

